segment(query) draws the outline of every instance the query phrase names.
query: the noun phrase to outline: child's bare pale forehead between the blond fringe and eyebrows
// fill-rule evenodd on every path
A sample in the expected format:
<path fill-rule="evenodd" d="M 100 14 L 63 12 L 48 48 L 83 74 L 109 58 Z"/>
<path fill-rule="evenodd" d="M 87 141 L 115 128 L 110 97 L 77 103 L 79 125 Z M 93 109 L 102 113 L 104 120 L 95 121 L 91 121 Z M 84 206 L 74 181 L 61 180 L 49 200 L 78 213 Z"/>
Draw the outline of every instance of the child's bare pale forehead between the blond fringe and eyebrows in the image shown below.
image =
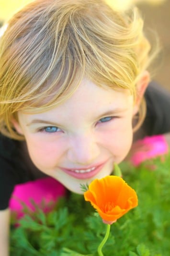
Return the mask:
<path fill-rule="evenodd" d="M 29 114 L 28 117 L 54 116 L 64 119 L 65 116 L 100 115 L 102 112 L 115 110 L 120 112 L 133 106 L 133 96 L 126 89 L 100 87 L 89 80 L 83 80 L 77 90 L 61 104 L 42 113 Z M 21 112 L 21 111 L 20 111 Z M 28 114 L 29 111 L 22 111 Z"/>

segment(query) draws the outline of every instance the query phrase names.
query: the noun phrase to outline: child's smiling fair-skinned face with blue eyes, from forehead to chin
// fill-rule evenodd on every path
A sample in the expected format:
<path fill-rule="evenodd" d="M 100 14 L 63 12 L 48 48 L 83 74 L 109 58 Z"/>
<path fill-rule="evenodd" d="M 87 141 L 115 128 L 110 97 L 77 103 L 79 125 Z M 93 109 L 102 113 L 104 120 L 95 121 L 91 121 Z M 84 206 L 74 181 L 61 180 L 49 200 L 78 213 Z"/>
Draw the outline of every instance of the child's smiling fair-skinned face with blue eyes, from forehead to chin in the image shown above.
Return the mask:
<path fill-rule="evenodd" d="M 69 190 L 110 175 L 132 144 L 136 111 L 128 90 L 104 89 L 83 80 L 56 108 L 40 114 L 18 113 L 16 130 L 25 136 L 34 165 Z"/>

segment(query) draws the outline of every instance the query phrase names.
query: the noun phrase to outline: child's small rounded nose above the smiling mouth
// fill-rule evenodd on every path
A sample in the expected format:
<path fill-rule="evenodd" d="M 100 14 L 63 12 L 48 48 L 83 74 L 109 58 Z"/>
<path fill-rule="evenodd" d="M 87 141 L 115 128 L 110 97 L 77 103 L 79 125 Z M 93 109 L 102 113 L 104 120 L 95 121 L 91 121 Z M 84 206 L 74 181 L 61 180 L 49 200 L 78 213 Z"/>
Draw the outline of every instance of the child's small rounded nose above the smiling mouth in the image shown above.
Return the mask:
<path fill-rule="evenodd" d="M 90 165 L 100 154 L 100 147 L 93 135 L 78 135 L 70 139 L 68 160 L 79 165 Z"/>

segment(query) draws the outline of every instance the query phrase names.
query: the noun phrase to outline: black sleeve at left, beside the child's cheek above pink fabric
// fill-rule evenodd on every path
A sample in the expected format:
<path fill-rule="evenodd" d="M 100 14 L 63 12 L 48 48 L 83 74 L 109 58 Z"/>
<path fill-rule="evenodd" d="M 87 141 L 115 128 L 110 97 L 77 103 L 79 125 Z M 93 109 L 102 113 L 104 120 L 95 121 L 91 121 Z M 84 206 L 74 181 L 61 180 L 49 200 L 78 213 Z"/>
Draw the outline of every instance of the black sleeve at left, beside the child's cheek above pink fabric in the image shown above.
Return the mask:
<path fill-rule="evenodd" d="M 8 208 L 16 184 L 46 177 L 36 169 L 25 150 L 26 143 L 0 135 L 0 210 Z"/>

